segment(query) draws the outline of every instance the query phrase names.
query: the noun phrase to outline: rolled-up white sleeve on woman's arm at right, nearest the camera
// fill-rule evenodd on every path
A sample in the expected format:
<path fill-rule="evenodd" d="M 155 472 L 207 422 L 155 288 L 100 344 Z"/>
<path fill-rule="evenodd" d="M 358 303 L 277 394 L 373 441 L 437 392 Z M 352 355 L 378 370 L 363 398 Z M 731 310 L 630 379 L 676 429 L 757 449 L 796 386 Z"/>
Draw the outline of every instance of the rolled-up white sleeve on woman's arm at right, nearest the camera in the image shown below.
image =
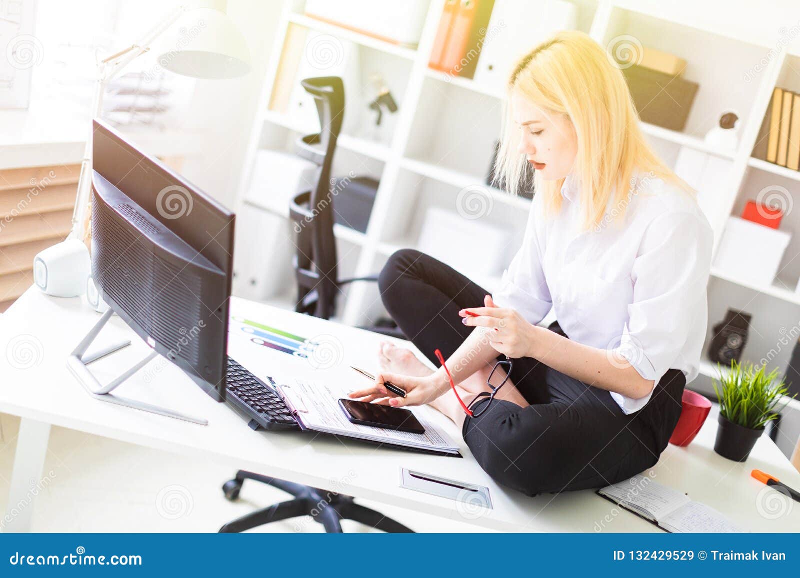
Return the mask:
<path fill-rule="evenodd" d="M 706 304 L 706 285 L 714 235 L 705 217 L 666 213 L 648 225 L 634 260 L 633 301 L 618 353 L 654 384 L 674 367 L 698 310 Z M 703 320 L 705 321 L 705 320 Z M 625 398 L 633 413 L 650 400 Z"/>

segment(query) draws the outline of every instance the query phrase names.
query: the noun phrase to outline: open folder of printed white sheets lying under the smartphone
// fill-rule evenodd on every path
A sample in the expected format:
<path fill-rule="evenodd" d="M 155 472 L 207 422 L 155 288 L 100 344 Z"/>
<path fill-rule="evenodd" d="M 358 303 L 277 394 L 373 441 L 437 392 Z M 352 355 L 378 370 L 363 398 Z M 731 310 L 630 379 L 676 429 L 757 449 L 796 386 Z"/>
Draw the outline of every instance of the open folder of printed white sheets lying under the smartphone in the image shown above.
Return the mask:
<path fill-rule="evenodd" d="M 432 421 L 427 420 L 418 409 L 411 408 L 411 411 L 425 428 L 425 433 L 398 432 L 394 429 L 350 423 L 338 404 L 339 398 L 346 398 L 348 392 L 338 385 L 294 377 L 289 383 L 278 383 L 277 389 L 304 430 L 397 445 L 422 452 L 461 456 L 453 440 Z"/>

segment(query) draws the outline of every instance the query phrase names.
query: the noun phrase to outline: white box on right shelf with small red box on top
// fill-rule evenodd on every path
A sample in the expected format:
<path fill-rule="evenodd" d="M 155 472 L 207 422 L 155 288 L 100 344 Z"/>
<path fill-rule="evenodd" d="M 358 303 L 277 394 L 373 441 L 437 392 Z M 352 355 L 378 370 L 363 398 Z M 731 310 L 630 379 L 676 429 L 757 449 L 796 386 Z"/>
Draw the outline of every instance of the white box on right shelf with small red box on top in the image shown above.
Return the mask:
<path fill-rule="evenodd" d="M 729 217 L 714 266 L 753 285 L 772 285 L 791 237 L 786 231 Z"/>

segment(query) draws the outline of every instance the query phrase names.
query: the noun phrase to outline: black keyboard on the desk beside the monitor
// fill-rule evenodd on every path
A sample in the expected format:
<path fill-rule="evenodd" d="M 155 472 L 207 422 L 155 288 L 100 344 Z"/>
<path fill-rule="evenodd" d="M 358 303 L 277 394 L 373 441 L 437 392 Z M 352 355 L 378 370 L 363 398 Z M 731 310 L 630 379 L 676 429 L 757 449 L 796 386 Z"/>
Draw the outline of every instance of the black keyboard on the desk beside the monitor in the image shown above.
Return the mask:
<path fill-rule="evenodd" d="M 300 429 L 298 422 L 275 392 L 258 377 L 228 357 L 226 395 L 231 405 L 250 417 L 250 427 L 258 429 Z"/>

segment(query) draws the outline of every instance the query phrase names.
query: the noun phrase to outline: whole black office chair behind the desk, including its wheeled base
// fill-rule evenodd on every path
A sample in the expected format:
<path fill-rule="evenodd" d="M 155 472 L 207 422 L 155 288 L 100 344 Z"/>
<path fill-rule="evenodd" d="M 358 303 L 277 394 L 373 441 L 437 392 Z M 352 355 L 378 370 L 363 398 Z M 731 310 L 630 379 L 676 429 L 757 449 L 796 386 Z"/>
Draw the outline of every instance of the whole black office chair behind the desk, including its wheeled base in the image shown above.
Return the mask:
<path fill-rule="evenodd" d="M 297 152 L 316 163 L 320 171 L 314 189 L 294 197 L 290 206 L 294 229 L 298 231 L 296 241 L 298 252 L 294 257 L 294 269 L 298 280 L 298 304 L 295 310 L 328 319 L 334 313 L 336 294 L 342 285 L 353 281 L 377 281 L 377 277 L 338 279 L 336 275 L 337 257 L 333 195 L 330 192 L 330 165 L 334 158 L 336 139 L 342 128 L 344 112 L 342 79 L 306 78 L 302 81 L 302 86 L 314 95 L 321 131 L 319 134 L 310 134 L 298 139 Z M 363 329 L 405 338 L 399 329 L 378 326 Z M 228 500 L 238 499 L 244 480 L 256 480 L 282 489 L 294 496 L 294 499 L 251 512 L 225 524 L 219 532 L 244 532 L 262 524 L 296 516 L 312 516 L 315 521 L 322 524 L 326 532 L 342 532 L 341 520 L 355 520 L 384 532 L 414 532 L 380 512 L 355 504 L 351 496 L 278 480 L 246 470 L 239 470 L 233 480 L 228 480 L 222 485 L 222 492 Z"/>

